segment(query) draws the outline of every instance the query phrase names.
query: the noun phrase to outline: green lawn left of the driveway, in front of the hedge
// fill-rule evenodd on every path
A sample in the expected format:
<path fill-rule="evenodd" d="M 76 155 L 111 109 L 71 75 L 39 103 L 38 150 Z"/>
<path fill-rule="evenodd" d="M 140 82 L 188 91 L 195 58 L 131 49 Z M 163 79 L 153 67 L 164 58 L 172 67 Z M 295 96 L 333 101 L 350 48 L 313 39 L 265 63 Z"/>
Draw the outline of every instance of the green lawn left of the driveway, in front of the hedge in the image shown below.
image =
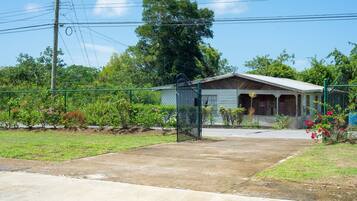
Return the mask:
<path fill-rule="evenodd" d="M 174 141 L 173 135 L 114 136 L 56 131 L 0 131 L 0 157 L 65 161 Z"/>

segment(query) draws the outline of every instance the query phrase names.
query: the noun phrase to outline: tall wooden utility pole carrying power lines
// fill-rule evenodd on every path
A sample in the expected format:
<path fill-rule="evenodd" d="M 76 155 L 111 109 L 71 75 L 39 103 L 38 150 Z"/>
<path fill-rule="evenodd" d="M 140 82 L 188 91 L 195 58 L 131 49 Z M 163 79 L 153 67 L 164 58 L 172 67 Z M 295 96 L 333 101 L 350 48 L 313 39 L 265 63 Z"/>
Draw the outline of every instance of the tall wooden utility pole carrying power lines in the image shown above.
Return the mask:
<path fill-rule="evenodd" d="M 58 61 L 58 27 L 59 27 L 59 7 L 60 0 L 55 0 L 55 22 L 53 24 L 53 49 L 52 49 L 52 70 L 51 70 L 51 91 L 56 90 L 56 74 Z"/>

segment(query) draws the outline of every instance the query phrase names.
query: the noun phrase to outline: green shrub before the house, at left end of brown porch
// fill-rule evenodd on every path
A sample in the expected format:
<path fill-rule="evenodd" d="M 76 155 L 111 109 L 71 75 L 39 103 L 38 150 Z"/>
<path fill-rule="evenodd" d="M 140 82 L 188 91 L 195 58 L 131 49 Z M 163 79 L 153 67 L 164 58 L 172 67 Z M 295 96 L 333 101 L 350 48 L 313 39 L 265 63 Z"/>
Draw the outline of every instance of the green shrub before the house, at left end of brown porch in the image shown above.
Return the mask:
<path fill-rule="evenodd" d="M 243 122 L 243 114 L 245 112 L 245 108 L 219 108 L 219 113 L 222 116 L 223 123 L 225 126 L 239 126 Z"/>

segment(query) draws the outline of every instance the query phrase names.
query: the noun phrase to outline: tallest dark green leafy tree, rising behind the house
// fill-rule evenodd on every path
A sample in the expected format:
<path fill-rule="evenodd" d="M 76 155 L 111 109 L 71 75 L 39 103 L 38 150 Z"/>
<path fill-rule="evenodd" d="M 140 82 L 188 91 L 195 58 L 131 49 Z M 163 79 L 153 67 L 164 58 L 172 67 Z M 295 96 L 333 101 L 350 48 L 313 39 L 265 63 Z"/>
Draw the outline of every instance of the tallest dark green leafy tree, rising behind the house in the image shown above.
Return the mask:
<path fill-rule="evenodd" d="M 197 61 L 204 63 L 203 38 L 213 37 L 213 11 L 190 0 L 144 0 L 143 8 L 137 47 L 146 70 L 157 75 L 156 84 L 172 83 L 178 73 L 190 79 L 204 76 Z"/>

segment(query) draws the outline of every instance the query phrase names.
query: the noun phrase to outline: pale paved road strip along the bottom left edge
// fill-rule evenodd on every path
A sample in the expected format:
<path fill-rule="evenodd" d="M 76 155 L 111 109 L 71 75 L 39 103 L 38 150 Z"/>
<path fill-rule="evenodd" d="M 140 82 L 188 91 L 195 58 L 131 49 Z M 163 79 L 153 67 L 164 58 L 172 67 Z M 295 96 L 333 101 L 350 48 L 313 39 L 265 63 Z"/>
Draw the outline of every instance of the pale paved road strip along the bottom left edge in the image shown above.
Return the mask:
<path fill-rule="evenodd" d="M 21 172 L 0 172 L 2 201 L 273 201 L 274 199 L 73 179 Z M 276 200 L 276 199 L 275 199 Z"/>

